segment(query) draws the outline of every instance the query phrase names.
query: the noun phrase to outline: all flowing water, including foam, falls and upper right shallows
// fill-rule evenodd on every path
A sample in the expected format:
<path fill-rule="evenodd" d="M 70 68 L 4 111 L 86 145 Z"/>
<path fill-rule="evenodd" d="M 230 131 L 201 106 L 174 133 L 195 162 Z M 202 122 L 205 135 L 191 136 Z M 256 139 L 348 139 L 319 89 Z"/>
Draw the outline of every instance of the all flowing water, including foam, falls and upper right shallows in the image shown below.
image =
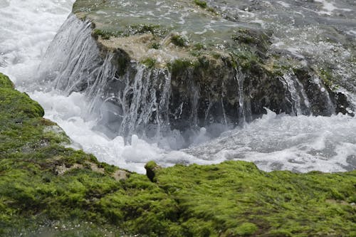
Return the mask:
<path fill-rule="evenodd" d="M 348 89 L 352 98 L 355 68 L 350 67 L 352 63 L 345 62 L 352 60 L 354 55 L 347 42 L 355 43 L 356 20 L 352 14 L 356 10 L 355 4 L 352 1 L 318 0 L 306 6 L 303 2 L 253 1 L 251 4 L 251 1 L 241 1 L 239 7 L 234 6 L 234 1 L 231 4 L 230 1 L 220 5 L 219 1 L 214 1 L 211 4 L 217 4 L 217 9 L 224 12 L 226 18 L 272 28 L 276 32 L 273 47 L 277 49 L 287 50 L 300 60 L 336 64 L 335 72 L 342 75 L 340 83 Z M 169 73 L 164 70 L 147 72 L 145 68 L 137 68 L 135 80 L 130 80 L 133 84 L 128 83 L 127 78 L 127 86 L 123 87 L 120 95 L 112 95 L 110 98 L 122 105 L 122 111 L 106 106 L 100 98 L 99 90 L 103 90 L 106 78 L 114 77 L 113 68 L 108 63 L 110 55 L 103 62 L 95 57 L 98 49 L 92 47 L 88 23 L 69 18 L 66 23 L 70 24 L 70 28 L 60 29 L 70 14 L 72 4 L 72 0 L 0 0 L 0 71 L 9 75 L 19 90 L 26 91 L 41 103 L 46 110 L 45 117 L 57 122 L 66 131 L 73 140 L 73 147 L 95 154 L 102 162 L 135 172 L 145 172 L 143 166 L 150 160 L 168 166 L 177 163 L 213 164 L 241 159 L 255 162 L 267 171 L 288 169 L 295 172 L 340 172 L 356 169 L 356 118 L 347 115 L 306 116 L 310 113 L 309 101 L 303 85 L 293 75 L 283 75 L 283 82 L 289 91 L 293 115 L 298 116 L 276 115 L 266 108 L 266 115 L 249 123 L 249 120 L 241 121 L 241 126 L 235 129 L 227 127 L 226 122 L 223 122 L 213 128 L 201 127 L 200 130 L 191 131 L 190 146 L 185 149 L 179 149 L 184 143 L 184 137 L 178 130 L 169 131 L 165 137 L 153 141 L 145 139 L 142 134 L 140 137 L 135 135 L 137 127 L 145 124 L 153 111 L 157 108 L 164 111 L 164 107 L 167 107 L 164 98 L 160 98 L 160 102 L 151 98 L 150 105 L 140 104 L 142 98 L 147 98 L 147 93 L 155 94 L 147 91 L 147 81 L 142 78 L 157 78 L 158 75 L 164 77 L 166 84 L 161 88 L 165 91 L 170 80 Z M 253 10 L 259 7 L 264 9 L 260 14 Z M 283 24 L 285 21 L 288 23 Z M 328 24 L 335 29 L 332 36 L 324 28 Z M 66 37 L 60 38 L 58 34 L 50 46 L 57 31 L 63 31 Z M 75 35 L 80 37 L 73 37 Z M 325 41 L 325 37 L 331 39 Z M 48 46 L 48 51 L 56 52 L 52 56 L 46 54 Z M 80 53 L 73 53 L 70 48 Z M 56 65 L 48 65 L 51 61 L 48 57 L 56 57 Z M 55 79 L 55 84 L 51 84 L 53 87 L 46 86 L 46 82 L 38 82 L 38 78 L 41 78 L 38 74 L 48 68 L 51 68 L 51 72 L 47 72 L 47 79 Z M 75 78 L 79 74 L 83 78 L 83 73 L 85 83 Z M 244 90 L 243 81 L 244 76 L 236 73 L 239 90 Z M 75 92 L 83 87 L 87 88 L 85 93 Z M 127 106 L 125 93 L 130 94 L 134 90 L 139 92 L 134 98 L 137 102 Z M 248 108 L 244 98 L 239 98 L 239 103 L 241 108 Z M 137 115 L 137 110 L 145 112 Z M 239 113 L 246 118 L 246 111 L 241 109 Z M 126 137 L 115 135 L 116 131 L 110 132 L 100 127 L 98 122 L 103 119 L 100 116 L 108 112 L 114 118 L 120 112 L 118 117 L 123 121 L 120 122 L 120 130 L 130 135 L 129 142 Z M 164 123 L 164 113 L 155 115 L 158 122 Z M 110 125 L 115 125 L 115 121 Z M 163 125 L 160 127 L 164 128 Z M 219 137 L 213 138 L 214 133 L 219 134 L 224 130 Z"/>

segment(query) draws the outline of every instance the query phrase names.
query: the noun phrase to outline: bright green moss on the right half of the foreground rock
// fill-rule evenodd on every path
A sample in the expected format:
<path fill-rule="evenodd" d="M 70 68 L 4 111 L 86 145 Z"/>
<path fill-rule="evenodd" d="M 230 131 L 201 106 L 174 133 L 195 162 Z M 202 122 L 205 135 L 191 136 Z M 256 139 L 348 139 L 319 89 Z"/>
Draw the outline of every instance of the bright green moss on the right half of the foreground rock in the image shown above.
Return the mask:
<path fill-rule="evenodd" d="M 355 228 L 355 209 L 342 205 L 355 195 L 355 172 L 266 173 L 252 163 L 224 162 L 159 169 L 156 180 L 183 208 L 181 218 L 211 221 L 211 235 L 323 236 Z"/>

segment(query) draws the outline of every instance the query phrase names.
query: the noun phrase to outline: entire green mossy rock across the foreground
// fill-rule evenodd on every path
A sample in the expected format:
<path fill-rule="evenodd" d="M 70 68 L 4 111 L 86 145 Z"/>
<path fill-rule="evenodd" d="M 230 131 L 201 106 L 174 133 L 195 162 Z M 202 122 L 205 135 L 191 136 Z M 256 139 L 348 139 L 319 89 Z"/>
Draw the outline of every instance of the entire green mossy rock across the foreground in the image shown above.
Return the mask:
<path fill-rule="evenodd" d="M 356 236 L 356 172 L 147 164 L 90 154 L 0 74 L 0 236 Z"/>

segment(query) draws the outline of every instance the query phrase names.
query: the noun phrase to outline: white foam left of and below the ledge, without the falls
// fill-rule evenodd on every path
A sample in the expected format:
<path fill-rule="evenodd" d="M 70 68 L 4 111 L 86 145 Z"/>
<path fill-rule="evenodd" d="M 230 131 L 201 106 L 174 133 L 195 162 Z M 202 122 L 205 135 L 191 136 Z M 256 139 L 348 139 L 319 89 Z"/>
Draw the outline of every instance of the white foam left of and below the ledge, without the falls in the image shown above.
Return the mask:
<path fill-rule="evenodd" d="M 84 95 L 72 93 L 66 97 L 53 90 L 32 91 L 30 86 L 71 4 L 73 0 L 0 0 L 0 71 L 43 105 L 46 117 L 63 127 L 74 146 L 95 154 L 100 161 L 135 172 L 145 172 L 143 166 L 150 160 L 172 165 L 243 159 L 268 171 L 338 172 L 356 168 L 356 118 L 345 115 L 291 117 L 268 111 L 261 119 L 211 141 L 202 128 L 193 142 L 198 145 L 181 151 L 159 148 L 135 135 L 131 144 L 125 144 L 122 137 L 109 139 L 93 131 L 96 122 L 88 119 L 90 104 Z M 287 86 L 293 89 L 288 82 Z M 305 100 L 302 94 L 295 93 L 295 98 L 297 104 Z M 181 137 L 174 131 L 166 139 L 179 142 Z M 201 142 L 206 143 L 199 145 Z"/>

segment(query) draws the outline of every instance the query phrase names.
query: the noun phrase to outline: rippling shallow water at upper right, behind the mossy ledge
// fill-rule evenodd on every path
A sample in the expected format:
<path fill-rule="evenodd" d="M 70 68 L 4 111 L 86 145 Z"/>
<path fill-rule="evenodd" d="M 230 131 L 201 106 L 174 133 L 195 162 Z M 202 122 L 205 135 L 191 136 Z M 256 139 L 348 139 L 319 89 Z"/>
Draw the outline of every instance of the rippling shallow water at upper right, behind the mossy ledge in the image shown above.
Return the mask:
<path fill-rule="evenodd" d="M 328 65 L 355 92 L 356 2 L 209 0 L 227 19 L 273 31 L 272 48 L 315 67 Z"/>

